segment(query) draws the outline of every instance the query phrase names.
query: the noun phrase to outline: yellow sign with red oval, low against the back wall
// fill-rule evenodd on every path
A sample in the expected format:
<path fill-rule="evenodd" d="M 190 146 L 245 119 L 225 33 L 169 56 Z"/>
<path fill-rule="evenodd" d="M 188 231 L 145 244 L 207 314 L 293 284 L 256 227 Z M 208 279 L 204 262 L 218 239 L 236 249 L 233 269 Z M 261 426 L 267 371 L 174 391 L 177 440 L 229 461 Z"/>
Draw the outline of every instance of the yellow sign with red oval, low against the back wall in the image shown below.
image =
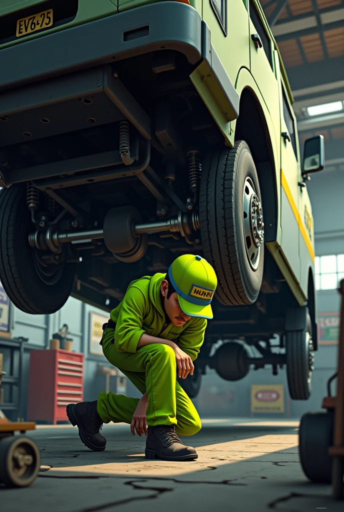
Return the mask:
<path fill-rule="evenodd" d="M 251 386 L 251 413 L 284 413 L 284 386 Z"/>

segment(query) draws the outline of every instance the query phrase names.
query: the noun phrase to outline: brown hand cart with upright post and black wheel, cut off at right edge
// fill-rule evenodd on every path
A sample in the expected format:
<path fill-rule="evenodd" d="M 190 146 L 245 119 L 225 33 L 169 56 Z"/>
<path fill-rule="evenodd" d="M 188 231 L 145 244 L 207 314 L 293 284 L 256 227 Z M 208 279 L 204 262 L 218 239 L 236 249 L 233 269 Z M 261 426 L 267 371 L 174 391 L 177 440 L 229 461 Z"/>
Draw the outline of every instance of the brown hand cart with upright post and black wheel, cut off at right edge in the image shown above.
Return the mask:
<path fill-rule="evenodd" d="M 299 428 L 300 461 L 313 482 L 332 483 L 336 500 L 343 499 L 344 476 L 344 280 L 340 281 L 340 328 L 338 369 L 328 381 L 328 396 L 322 400 L 326 412 L 306 413 Z M 337 394 L 331 396 L 331 383 L 337 378 Z"/>

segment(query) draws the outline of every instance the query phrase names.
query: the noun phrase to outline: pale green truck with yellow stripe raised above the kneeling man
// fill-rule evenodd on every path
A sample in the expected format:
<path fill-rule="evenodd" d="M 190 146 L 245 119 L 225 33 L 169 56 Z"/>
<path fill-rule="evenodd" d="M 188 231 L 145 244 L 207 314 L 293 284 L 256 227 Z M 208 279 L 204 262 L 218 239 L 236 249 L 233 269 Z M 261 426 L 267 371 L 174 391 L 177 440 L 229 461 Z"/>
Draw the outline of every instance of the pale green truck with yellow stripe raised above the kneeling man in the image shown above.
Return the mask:
<path fill-rule="evenodd" d="M 131 280 L 201 254 L 217 304 L 187 392 L 207 366 L 238 380 L 286 365 L 291 398 L 307 399 L 307 180 L 324 140 L 301 159 L 292 103 L 257 0 L 1 0 L 0 280 L 12 303 L 49 314 L 72 295 L 110 311 Z"/>

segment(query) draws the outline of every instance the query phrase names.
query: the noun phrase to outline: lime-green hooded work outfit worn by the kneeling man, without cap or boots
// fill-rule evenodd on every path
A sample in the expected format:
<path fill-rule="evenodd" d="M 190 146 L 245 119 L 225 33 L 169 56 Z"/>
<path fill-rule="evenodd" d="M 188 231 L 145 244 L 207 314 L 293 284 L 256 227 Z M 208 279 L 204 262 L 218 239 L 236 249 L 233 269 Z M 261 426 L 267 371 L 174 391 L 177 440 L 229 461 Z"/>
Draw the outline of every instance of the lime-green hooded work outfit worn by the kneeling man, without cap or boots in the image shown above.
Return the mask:
<path fill-rule="evenodd" d="M 122 302 L 111 312 L 116 330 L 105 329 L 102 337 L 106 359 L 130 379 L 142 394 L 147 392 L 147 425 L 176 425 L 187 436 L 201 429 L 193 403 L 177 382 L 176 355 L 168 345 L 154 343 L 137 348 L 143 333 L 175 340 L 195 360 L 204 339 L 205 318 L 191 317 L 182 327 L 165 323 L 160 285 L 165 274 L 133 281 Z M 166 319 L 169 322 L 169 319 Z M 178 339 L 177 339 L 178 338 Z M 115 393 L 101 392 L 97 410 L 104 423 L 131 423 L 139 402 Z"/>

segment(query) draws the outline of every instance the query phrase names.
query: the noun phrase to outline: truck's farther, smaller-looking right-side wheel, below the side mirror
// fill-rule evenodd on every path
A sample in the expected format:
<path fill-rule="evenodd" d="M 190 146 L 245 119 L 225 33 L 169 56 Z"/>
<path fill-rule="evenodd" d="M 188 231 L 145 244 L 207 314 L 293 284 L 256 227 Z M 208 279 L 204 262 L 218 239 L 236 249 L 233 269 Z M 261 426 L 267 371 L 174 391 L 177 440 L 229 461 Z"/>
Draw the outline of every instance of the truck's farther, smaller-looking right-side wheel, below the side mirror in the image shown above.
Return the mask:
<path fill-rule="evenodd" d="M 309 365 L 307 333 L 310 334 L 310 343 L 312 343 L 312 323 L 309 315 L 304 331 L 286 332 L 287 380 L 290 398 L 293 400 L 308 400 L 311 395 L 311 379 L 308 381 L 307 375 Z"/>

